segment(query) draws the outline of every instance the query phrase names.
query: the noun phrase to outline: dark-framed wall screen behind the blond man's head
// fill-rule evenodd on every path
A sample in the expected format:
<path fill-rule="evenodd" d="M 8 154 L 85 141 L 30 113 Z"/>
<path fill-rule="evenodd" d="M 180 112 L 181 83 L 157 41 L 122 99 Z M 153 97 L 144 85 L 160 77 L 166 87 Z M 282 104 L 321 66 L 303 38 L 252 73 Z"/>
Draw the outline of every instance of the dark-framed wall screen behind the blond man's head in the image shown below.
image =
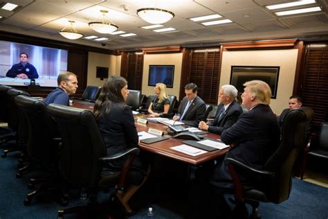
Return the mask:
<path fill-rule="evenodd" d="M 249 80 L 263 80 L 272 92 L 271 98 L 277 96 L 277 85 L 280 67 L 254 67 L 254 66 L 232 66 L 230 85 L 234 85 L 239 93 L 244 92 L 244 83 Z"/>

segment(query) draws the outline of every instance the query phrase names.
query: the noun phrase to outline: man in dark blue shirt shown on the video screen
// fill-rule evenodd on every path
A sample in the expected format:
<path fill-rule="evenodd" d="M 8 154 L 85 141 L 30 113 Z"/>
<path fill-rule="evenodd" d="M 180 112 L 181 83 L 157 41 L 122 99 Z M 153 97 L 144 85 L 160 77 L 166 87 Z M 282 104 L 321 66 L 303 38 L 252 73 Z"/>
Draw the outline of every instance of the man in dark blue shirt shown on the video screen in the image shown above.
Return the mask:
<path fill-rule="evenodd" d="M 28 54 L 20 53 L 19 59 L 21 62 L 12 65 L 11 69 L 6 73 L 7 77 L 10 78 L 23 78 L 23 79 L 35 79 L 39 78 L 39 74 L 37 73 L 37 69 L 28 62 Z"/>

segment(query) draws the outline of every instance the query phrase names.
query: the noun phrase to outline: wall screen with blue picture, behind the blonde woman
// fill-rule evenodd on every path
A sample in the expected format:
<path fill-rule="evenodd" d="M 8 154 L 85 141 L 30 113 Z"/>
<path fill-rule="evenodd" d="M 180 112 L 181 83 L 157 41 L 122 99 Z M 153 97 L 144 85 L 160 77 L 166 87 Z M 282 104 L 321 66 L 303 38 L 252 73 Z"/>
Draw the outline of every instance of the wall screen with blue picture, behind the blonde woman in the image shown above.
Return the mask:
<path fill-rule="evenodd" d="M 148 86 L 163 83 L 166 87 L 173 87 L 174 65 L 149 65 Z"/>

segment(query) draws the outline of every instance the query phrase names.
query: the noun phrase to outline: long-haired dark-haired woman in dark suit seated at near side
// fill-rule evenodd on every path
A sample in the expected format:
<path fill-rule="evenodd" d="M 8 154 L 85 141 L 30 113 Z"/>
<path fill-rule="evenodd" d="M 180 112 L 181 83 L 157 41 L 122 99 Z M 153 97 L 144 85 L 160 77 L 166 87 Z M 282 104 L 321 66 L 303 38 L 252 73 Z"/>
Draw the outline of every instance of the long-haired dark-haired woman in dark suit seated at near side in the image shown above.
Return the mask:
<path fill-rule="evenodd" d="M 134 125 L 134 116 L 125 103 L 129 96 L 127 80 L 119 76 L 110 76 L 104 83 L 100 95 L 95 100 L 93 113 L 98 121 L 100 132 L 107 146 L 107 155 L 113 155 L 126 148 L 138 147 L 138 132 Z M 113 166 L 122 166 L 123 161 L 113 163 Z M 131 166 L 131 177 L 128 177 L 129 186 L 123 193 L 116 193 L 127 214 L 134 211 L 127 203 L 131 196 L 138 191 L 147 179 L 147 165 L 136 157 Z"/>

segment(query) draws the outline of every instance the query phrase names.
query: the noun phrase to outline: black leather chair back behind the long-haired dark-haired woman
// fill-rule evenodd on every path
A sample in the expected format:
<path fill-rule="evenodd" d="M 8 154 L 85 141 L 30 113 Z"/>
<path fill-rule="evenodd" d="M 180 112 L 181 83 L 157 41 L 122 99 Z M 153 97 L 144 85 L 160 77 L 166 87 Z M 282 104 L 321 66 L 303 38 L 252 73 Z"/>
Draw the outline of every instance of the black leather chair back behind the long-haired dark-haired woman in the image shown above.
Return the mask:
<path fill-rule="evenodd" d="M 98 158 L 107 152 L 95 116 L 89 110 L 54 103 L 48 105 L 48 112 L 62 137 L 60 173 L 71 184 L 96 186 L 101 173 Z"/>

